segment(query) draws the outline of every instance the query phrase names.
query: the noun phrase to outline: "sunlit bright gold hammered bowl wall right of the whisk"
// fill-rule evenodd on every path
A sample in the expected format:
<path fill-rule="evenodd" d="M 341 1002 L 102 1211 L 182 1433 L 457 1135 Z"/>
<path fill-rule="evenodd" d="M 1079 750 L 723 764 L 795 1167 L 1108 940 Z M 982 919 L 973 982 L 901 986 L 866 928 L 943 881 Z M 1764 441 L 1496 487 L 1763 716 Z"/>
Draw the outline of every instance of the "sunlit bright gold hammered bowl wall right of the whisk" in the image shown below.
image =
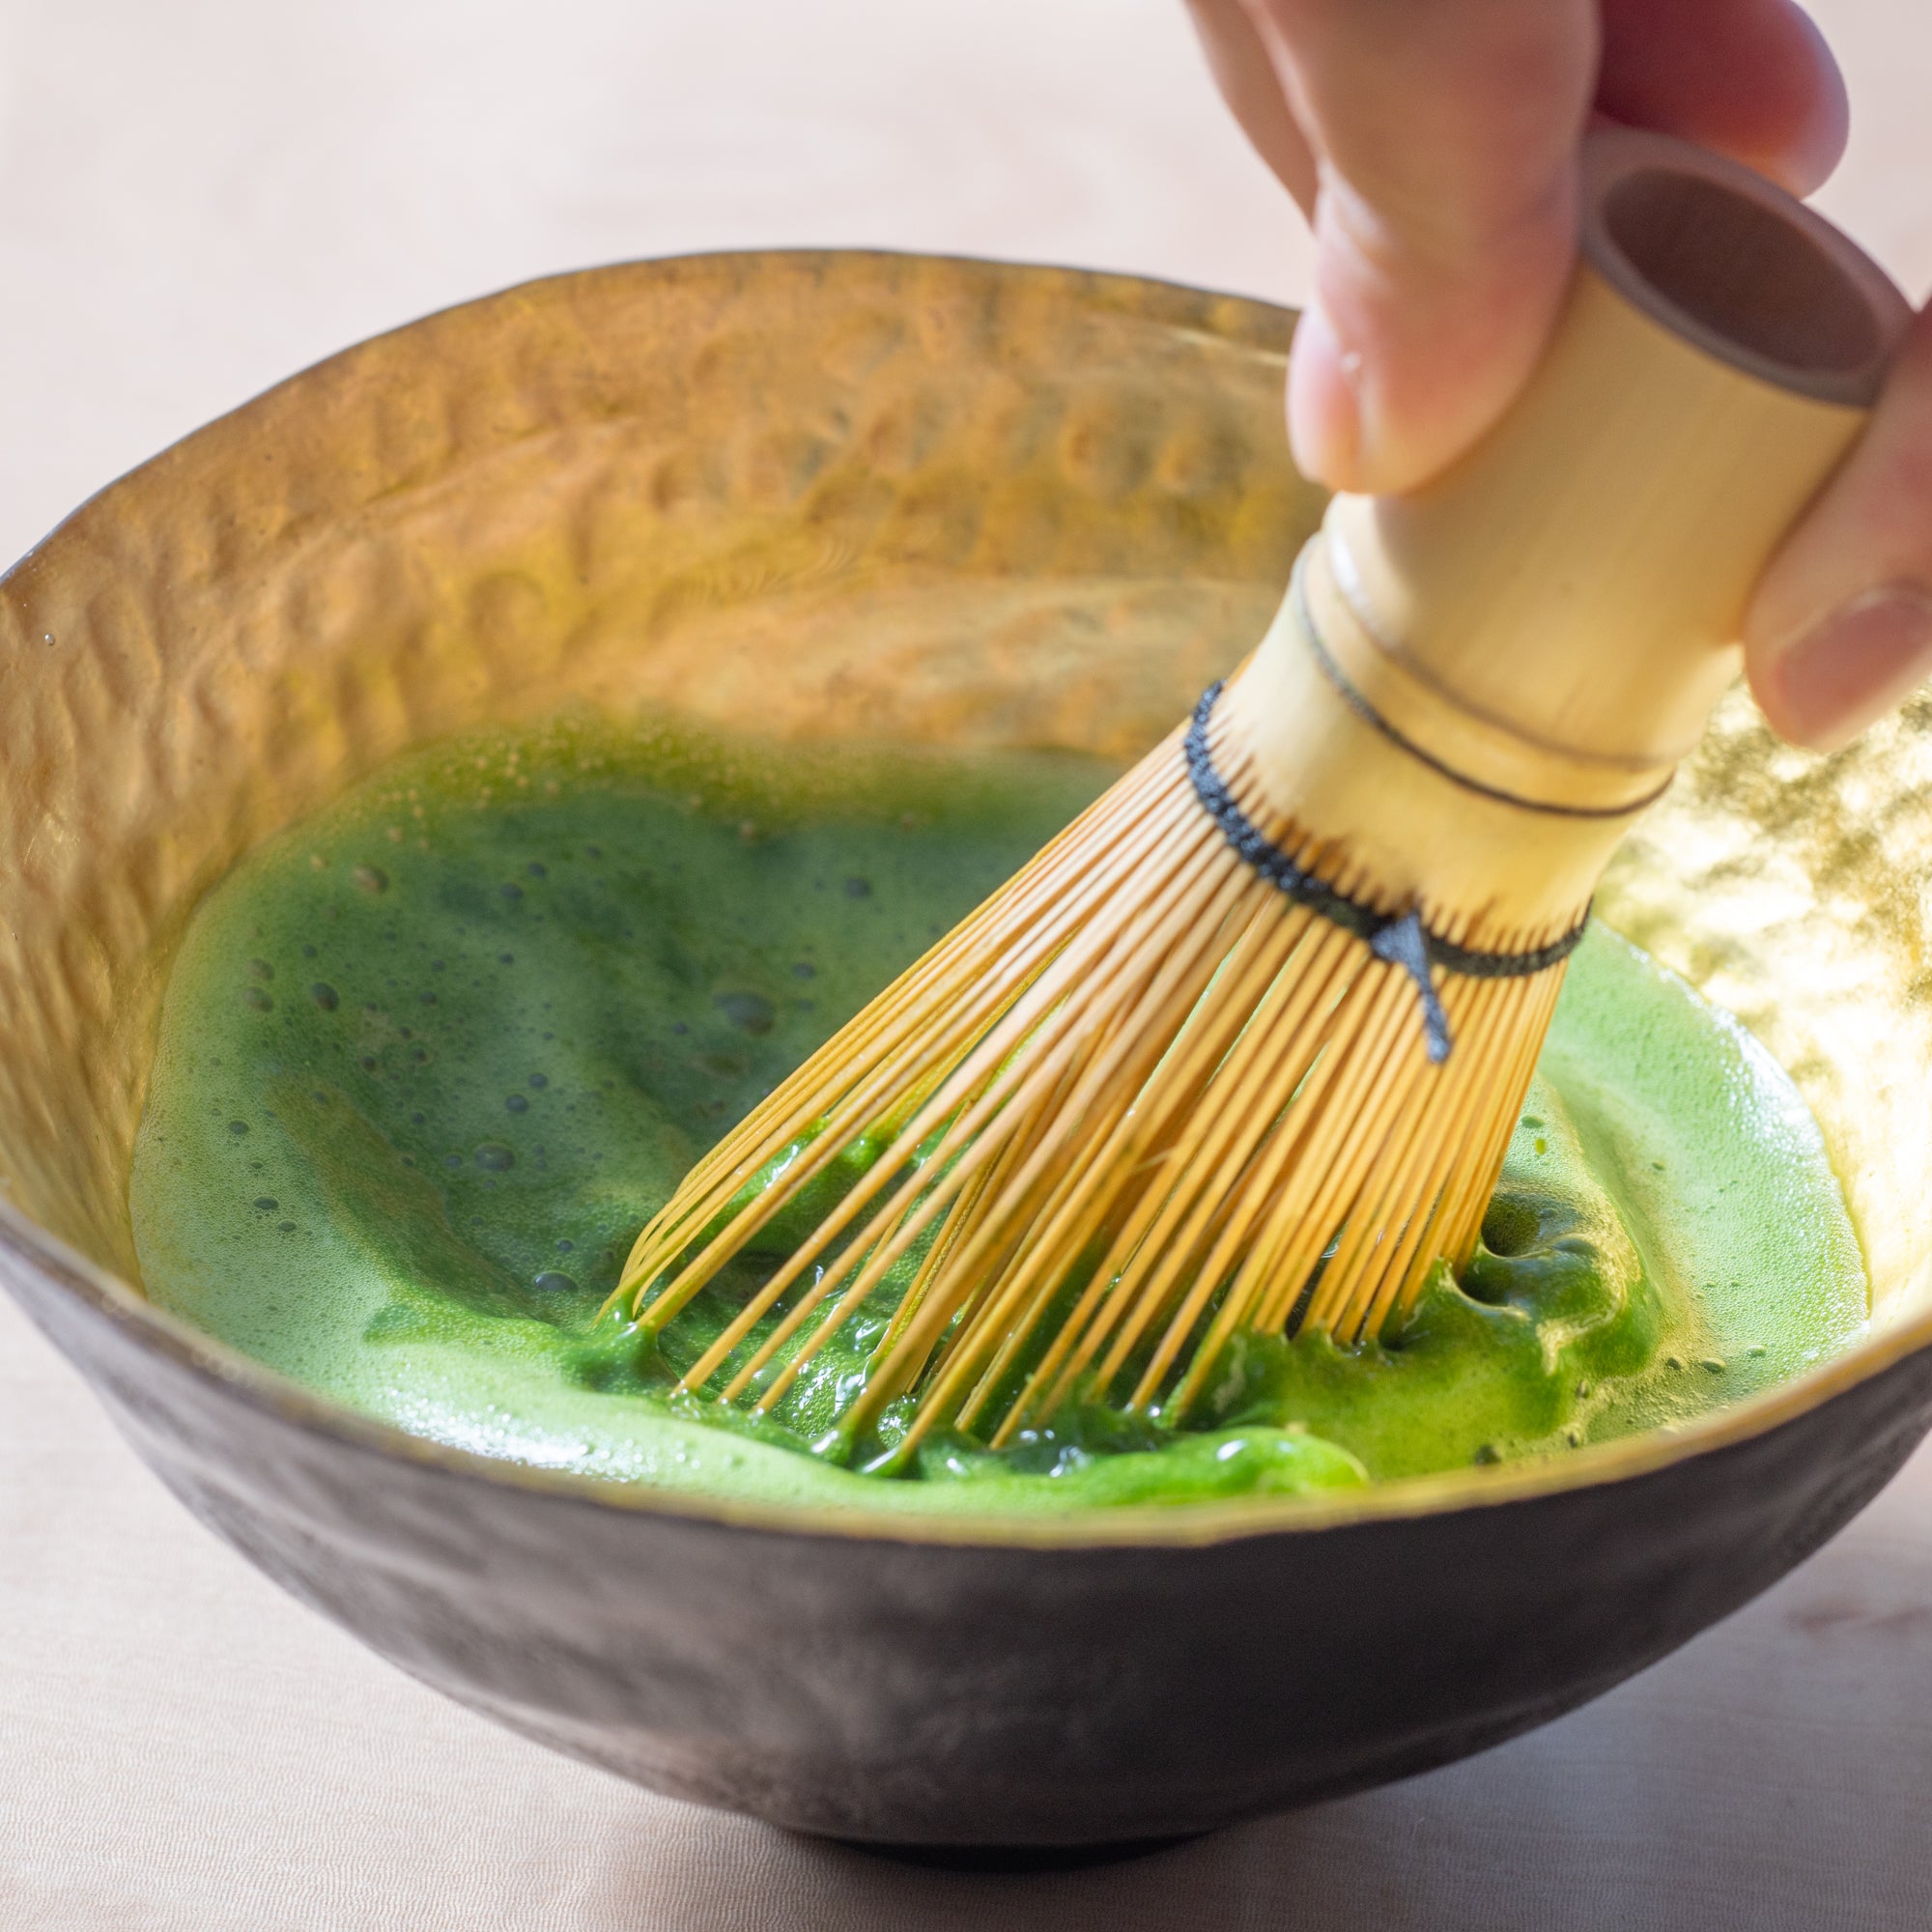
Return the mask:
<path fill-rule="evenodd" d="M 1625 838 L 1609 923 L 1735 1012 L 1810 1103 L 1878 1325 L 1932 1310 L 1932 697 L 1820 757 L 1743 688 Z"/>

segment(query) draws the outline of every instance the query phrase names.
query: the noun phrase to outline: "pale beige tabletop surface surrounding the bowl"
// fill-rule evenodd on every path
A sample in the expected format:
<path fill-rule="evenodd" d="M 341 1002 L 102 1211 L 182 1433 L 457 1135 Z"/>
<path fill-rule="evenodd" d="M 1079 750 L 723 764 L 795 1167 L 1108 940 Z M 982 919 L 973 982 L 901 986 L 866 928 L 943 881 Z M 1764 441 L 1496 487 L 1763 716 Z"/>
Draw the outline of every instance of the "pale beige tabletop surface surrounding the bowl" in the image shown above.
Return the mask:
<path fill-rule="evenodd" d="M 1826 203 L 1932 282 L 1932 8 L 1820 0 Z M 867 243 L 1293 299 L 1180 0 L 0 0 L 0 553 L 332 348 L 553 269 Z M 0 688 L 4 701 L 4 688 Z M 1932 1457 L 1756 1605 L 1470 1764 L 960 1878 L 632 1791 L 203 1534 L 0 1308 L 0 1926 L 1932 1924 Z"/>

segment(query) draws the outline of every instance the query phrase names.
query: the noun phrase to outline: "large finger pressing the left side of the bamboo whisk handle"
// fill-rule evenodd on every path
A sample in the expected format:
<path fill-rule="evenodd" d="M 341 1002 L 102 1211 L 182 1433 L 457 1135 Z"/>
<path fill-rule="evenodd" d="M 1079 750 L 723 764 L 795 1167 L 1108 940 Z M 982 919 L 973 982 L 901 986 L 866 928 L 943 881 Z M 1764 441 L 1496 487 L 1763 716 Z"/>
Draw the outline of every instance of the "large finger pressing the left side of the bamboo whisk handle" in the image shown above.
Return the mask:
<path fill-rule="evenodd" d="M 1316 153 L 1304 473 L 1410 489 L 1522 386 L 1575 253 L 1594 0 L 1246 0 Z"/>

